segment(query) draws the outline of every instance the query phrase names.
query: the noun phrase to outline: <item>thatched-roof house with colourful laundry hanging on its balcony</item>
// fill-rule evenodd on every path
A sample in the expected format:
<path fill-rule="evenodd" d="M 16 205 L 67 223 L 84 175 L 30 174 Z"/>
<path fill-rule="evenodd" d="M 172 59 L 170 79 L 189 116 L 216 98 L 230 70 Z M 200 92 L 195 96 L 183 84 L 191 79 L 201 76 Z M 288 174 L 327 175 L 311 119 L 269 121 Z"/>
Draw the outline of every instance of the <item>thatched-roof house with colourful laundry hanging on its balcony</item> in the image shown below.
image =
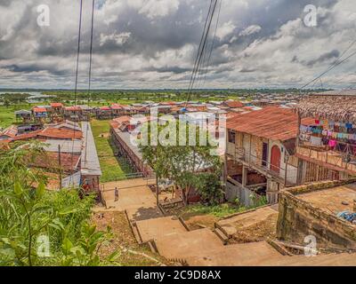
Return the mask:
<path fill-rule="evenodd" d="M 296 106 L 296 112 L 301 182 L 356 176 L 356 90 L 309 95 Z M 314 122 L 301 123 L 308 116 Z"/>

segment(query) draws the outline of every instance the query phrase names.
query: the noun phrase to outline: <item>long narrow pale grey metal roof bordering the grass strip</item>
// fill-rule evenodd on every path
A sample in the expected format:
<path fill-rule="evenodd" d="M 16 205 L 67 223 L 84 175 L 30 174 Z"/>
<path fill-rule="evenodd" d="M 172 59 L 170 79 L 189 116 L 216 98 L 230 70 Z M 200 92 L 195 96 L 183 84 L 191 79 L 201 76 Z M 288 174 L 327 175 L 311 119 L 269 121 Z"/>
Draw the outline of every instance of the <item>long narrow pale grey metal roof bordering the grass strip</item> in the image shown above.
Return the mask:
<path fill-rule="evenodd" d="M 101 166 L 90 123 L 82 122 L 82 130 L 83 151 L 81 159 L 81 173 L 83 176 L 101 176 Z"/>

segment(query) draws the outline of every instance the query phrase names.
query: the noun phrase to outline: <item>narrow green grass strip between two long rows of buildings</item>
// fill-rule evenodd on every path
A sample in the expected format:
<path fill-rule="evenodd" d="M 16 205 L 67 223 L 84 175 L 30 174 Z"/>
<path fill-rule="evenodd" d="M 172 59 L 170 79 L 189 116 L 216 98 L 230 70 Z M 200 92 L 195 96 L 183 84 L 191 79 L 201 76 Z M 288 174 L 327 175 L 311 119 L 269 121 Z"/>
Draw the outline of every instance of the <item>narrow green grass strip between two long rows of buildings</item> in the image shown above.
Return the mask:
<path fill-rule="evenodd" d="M 95 139 L 95 146 L 98 152 L 99 161 L 101 164 L 101 182 L 106 183 L 115 181 L 125 174 L 133 172 L 130 165 L 124 158 L 117 158 L 114 155 L 114 150 L 109 143 L 109 121 L 92 121 L 93 136 Z M 103 135 L 103 137 L 101 137 Z"/>

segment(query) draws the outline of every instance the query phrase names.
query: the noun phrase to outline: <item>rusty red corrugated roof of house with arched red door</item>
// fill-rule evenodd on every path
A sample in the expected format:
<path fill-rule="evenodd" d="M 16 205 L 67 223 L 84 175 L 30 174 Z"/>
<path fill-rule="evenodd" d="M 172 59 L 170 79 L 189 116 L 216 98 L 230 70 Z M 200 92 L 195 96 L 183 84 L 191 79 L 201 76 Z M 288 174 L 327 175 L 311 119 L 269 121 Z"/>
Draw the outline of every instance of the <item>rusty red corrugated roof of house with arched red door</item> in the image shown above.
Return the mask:
<path fill-rule="evenodd" d="M 302 122 L 308 125 L 314 119 L 305 118 Z M 257 137 L 285 141 L 296 137 L 298 118 L 293 109 L 267 106 L 251 113 L 233 115 L 228 118 L 226 127 Z"/>

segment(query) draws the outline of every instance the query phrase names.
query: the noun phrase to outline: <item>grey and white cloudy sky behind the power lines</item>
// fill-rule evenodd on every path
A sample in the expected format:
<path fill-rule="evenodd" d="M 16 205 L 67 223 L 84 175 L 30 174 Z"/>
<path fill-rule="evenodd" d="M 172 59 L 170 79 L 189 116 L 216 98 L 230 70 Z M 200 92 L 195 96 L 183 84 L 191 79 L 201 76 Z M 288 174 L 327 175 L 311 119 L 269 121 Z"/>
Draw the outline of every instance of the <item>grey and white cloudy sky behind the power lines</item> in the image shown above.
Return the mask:
<path fill-rule="evenodd" d="M 210 66 L 197 87 L 300 87 L 356 39 L 354 0 L 222 1 Z M 81 88 L 92 0 L 84 3 Z M 96 0 L 93 88 L 187 88 L 209 3 Z M 40 4 L 50 8 L 49 27 L 37 24 Z M 316 27 L 304 24 L 307 4 L 317 7 Z M 0 0 L 0 88 L 73 88 L 78 16 L 79 0 Z M 354 51 L 356 44 L 343 58 Z M 356 84 L 355 62 L 348 59 L 314 86 Z"/>

